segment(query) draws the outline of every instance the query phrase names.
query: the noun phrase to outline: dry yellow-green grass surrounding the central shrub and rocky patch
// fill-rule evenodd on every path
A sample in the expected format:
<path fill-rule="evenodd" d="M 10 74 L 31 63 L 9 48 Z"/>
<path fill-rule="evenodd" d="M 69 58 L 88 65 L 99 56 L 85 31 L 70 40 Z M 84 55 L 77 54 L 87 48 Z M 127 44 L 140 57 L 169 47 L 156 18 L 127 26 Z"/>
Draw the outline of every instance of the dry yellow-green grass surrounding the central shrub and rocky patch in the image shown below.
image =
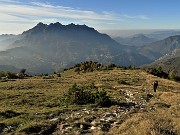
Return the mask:
<path fill-rule="evenodd" d="M 157 93 L 153 92 L 152 83 L 159 81 Z M 125 81 L 127 84 L 122 84 Z M 87 85 L 94 83 L 103 88 L 108 95 L 117 101 L 126 101 L 123 92 L 133 94 L 131 102 L 144 103 L 144 109 L 133 108 L 127 114 L 122 113 L 124 122 L 111 127 L 106 134 L 112 135 L 180 135 L 180 83 L 150 75 L 142 70 L 94 71 L 76 74 L 72 70 L 62 73 L 62 77 L 43 79 L 33 77 L 23 80 L 0 82 L 0 113 L 12 110 L 20 115 L 5 118 L 0 115 L 0 122 L 6 125 L 17 125 L 8 133 L 25 133 L 24 130 L 33 125 L 51 125 L 49 116 L 58 116 L 64 109 L 75 112 L 87 106 L 66 106 L 61 99 L 74 83 Z M 143 99 L 147 94 L 154 95 L 148 102 Z M 146 97 L 145 97 L 146 98 Z M 130 102 L 130 101 L 126 101 Z M 115 106 L 114 108 L 116 108 Z M 98 108 L 97 115 L 111 112 L 113 107 Z M 71 115 L 65 113 L 64 117 Z M 83 118 L 82 118 L 83 119 Z M 92 134 L 104 134 L 101 130 L 93 130 Z"/>

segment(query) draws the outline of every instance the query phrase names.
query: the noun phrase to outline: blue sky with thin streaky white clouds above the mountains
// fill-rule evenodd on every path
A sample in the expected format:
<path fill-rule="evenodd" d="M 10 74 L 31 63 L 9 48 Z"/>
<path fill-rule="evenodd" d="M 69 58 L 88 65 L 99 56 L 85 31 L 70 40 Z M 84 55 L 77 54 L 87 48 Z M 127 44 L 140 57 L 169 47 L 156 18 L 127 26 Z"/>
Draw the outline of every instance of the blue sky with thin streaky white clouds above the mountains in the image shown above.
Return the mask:
<path fill-rule="evenodd" d="M 180 0 L 0 0 L 0 34 L 20 34 L 39 22 L 97 30 L 180 29 Z"/>

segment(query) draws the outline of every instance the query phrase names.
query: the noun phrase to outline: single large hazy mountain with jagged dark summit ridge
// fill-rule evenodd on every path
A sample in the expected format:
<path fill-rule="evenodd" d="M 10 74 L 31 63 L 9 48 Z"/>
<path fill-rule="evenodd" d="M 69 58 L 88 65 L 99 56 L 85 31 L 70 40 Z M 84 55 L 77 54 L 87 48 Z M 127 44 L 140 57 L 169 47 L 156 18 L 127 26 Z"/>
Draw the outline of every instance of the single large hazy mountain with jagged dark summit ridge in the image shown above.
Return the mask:
<path fill-rule="evenodd" d="M 10 37 L 0 52 L 1 65 L 26 68 L 32 73 L 51 73 L 82 61 L 103 64 L 142 65 L 151 60 L 86 25 L 39 23 Z M 6 39 L 7 40 L 7 39 Z"/>

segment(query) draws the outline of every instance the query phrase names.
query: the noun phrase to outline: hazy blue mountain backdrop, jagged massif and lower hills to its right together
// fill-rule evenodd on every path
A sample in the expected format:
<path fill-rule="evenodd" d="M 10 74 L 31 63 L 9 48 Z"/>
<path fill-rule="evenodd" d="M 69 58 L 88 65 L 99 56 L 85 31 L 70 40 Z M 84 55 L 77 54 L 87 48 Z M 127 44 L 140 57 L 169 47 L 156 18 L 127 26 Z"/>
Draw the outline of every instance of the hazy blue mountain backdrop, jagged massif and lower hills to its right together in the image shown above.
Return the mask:
<path fill-rule="evenodd" d="M 36 74 L 84 61 L 141 66 L 178 49 L 179 40 L 180 36 L 172 36 L 157 41 L 143 34 L 114 40 L 86 25 L 38 23 L 20 35 L 0 36 L 0 67 L 26 68 Z"/>

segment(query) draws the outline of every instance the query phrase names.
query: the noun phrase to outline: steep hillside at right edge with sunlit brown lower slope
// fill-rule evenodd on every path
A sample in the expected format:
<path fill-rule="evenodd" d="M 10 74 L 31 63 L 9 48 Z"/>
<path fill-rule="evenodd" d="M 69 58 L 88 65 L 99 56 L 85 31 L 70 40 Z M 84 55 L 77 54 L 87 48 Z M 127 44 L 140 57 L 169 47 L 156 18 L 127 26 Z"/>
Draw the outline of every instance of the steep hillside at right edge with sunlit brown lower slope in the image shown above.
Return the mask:
<path fill-rule="evenodd" d="M 154 60 L 145 67 L 162 67 L 164 71 L 168 73 L 173 71 L 180 76 L 180 35 L 143 46 L 140 53 Z"/>

